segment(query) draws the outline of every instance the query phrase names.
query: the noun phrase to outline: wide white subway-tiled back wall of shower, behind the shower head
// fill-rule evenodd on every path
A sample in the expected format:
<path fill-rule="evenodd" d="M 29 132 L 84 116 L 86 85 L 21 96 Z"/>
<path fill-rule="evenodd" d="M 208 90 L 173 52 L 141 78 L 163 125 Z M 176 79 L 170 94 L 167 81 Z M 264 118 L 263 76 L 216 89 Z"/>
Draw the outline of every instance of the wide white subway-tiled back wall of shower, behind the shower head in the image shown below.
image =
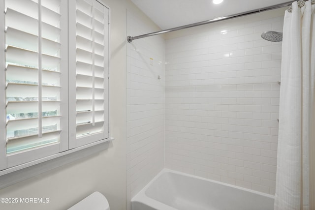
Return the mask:
<path fill-rule="evenodd" d="M 284 17 L 252 17 L 166 41 L 165 167 L 274 194 Z"/>

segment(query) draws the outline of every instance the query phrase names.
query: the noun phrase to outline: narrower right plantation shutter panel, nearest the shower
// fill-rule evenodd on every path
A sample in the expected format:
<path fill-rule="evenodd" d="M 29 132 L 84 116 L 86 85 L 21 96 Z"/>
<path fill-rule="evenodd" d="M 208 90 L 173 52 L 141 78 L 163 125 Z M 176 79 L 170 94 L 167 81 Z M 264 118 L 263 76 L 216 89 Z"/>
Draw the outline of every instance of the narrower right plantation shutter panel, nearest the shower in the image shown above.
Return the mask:
<path fill-rule="evenodd" d="M 69 148 L 75 148 L 109 137 L 109 10 L 96 0 L 76 0 L 69 9 L 73 13 L 69 16 L 75 17 L 69 19 L 70 87 L 74 87 L 69 94 L 73 101 Z"/>

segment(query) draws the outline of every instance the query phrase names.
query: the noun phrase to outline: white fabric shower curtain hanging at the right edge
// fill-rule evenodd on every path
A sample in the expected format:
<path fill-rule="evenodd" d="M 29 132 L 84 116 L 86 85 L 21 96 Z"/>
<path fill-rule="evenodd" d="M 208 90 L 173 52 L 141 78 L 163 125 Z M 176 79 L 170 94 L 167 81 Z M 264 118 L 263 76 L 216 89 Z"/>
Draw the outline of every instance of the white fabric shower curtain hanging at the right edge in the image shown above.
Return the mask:
<path fill-rule="evenodd" d="M 275 210 L 315 210 L 314 3 L 284 15 Z"/>

